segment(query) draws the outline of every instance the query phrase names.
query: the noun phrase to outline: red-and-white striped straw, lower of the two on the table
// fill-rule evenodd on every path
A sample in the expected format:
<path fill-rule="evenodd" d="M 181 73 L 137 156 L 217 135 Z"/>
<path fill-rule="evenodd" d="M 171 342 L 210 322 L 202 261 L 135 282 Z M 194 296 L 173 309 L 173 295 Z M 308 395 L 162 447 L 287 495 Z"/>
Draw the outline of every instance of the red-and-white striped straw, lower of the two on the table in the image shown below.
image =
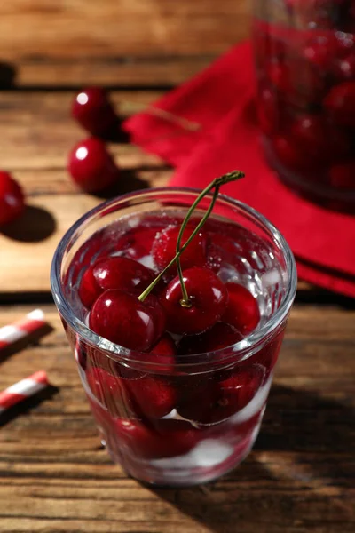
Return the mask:
<path fill-rule="evenodd" d="M 12 405 L 39 393 L 46 386 L 49 386 L 49 381 L 44 370 L 39 370 L 35 374 L 32 374 L 32 376 L 21 379 L 18 383 L 9 386 L 0 393 L 0 414 L 9 409 L 9 407 L 12 407 Z"/>

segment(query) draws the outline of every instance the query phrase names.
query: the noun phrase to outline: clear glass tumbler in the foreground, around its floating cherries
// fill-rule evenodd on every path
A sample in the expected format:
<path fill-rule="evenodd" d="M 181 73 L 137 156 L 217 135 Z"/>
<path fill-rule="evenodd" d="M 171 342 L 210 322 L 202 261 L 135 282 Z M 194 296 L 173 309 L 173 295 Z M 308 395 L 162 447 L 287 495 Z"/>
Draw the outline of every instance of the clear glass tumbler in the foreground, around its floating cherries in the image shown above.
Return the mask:
<path fill-rule="evenodd" d="M 159 188 L 99 205 L 67 231 L 51 268 L 54 301 L 102 442 L 131 476 L 162 486 L 210 481 L 248 455 L 296 293 L 295 261 L 280 232 L 252 208 L 220 195 L 206 224 L 209 256 L 222 281 L 238 280 L 257 299 L 256 330 L 233 346 L 180 350 L 174 362 L 163 356 L 151 362 L 89 329 L 77 294 L 85 269 L 98 257 L 122 249 L 129 254 L 134 245 L 136 257 L 144 249 L 141 257 L 149 262 L 153 236 L 184 217 L 198 193 Z M 202 200 L 196 217 L 210 199 Z M 166 395 L 173 404 L 163 414 Z"/>

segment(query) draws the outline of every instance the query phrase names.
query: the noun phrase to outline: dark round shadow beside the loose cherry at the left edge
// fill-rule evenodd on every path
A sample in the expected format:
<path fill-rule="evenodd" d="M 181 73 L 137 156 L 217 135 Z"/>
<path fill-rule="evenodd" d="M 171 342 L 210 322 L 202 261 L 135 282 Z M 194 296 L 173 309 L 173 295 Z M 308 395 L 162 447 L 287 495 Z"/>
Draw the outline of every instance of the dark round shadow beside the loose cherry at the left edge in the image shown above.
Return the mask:
<path fill-rule="evenodd" d="M 1 233 L 22 243 L 39 243 L 56 229 L 56 221 L 49 211 L 28 205 L 20 219 L 1 228 Z"/>

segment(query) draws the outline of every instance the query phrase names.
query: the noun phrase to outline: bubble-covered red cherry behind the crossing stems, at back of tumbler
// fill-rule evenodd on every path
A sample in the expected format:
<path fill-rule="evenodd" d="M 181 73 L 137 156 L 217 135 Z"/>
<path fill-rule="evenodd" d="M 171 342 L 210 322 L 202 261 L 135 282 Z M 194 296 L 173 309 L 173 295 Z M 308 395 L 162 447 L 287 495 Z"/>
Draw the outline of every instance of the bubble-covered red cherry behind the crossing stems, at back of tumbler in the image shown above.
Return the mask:
<path fill-rule="evenodd" d="M 194 227 L 188 226 L 185 228 L 181 244 L 184 245 L 187 239 L 192 235 Z M 176 255 L 177 236 L 180 232 L 180 227 L 168 227 L 158 233 L 154 239 L 152 255 L 155 266 L 162 270 L 166 267 L 171 259 Z M 200 231 L 193 241 L 187 246 L 184 253 L 181 255 L 181 266 L 183 268 L 189 267 L 203 267 L 206 264 L 206 247 L 207 237 Z M 177 267 L 174 265 L 170 271 L 176 274 Z"/>

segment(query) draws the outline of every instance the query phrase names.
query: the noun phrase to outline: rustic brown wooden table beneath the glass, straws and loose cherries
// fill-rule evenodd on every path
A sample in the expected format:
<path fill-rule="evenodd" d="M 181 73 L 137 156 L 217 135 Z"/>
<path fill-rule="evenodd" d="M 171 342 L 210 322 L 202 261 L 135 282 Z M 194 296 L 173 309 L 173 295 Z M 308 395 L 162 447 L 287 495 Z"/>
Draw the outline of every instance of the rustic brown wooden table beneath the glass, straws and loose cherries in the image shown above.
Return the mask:
<path fill-rule="evenodd" d="M 51 300 L 59 238 L 100 201 L 78 192 L 65 169 L 84 136 L 69 117 L 75 88 L 105 84 L 122 114 L 133 113 L 247 36 L 247 3 L 3 4 L 0 164 L 20 180 L 28 211 L 0 234 L 0 326 L 39 306 L 53 330 L 3 357 L 0 388 L 43 368 L 58 390 L 3 420 L 0 531 L 355 531 L 353 301 L 300 284 L 254 451 L 206 487 L 162 490 L 129 479 L 101 448 Z M 170 177 L 137 147 L 110 148 L 122 167 L 118 193 Z"/>

